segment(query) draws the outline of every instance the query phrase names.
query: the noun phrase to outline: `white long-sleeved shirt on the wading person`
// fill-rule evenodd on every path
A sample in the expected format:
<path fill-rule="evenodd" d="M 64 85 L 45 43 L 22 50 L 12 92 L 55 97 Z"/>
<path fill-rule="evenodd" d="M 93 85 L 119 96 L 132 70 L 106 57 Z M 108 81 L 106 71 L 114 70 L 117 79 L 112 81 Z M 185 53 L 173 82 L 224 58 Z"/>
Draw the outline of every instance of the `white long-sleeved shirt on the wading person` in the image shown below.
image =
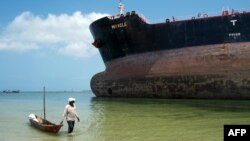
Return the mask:
<path fill-rule="evenodd" d="M 65 106 L 64 112 L 63 112 L 63 118 L 66 117 L 67 121 L 75 121 L 76 117 L 78 117 L 76 113 L 76 106 L 71 107 L 69 104 Z"/>

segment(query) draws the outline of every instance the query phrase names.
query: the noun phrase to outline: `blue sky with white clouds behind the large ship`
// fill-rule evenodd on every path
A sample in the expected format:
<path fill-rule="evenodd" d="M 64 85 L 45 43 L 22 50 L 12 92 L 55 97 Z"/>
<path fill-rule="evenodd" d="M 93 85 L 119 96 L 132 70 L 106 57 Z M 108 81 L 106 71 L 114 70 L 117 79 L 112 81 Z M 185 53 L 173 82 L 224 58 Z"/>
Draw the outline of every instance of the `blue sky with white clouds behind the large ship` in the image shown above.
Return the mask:
<path fill-rule="evenodd" d="M 91 77 L 105 65 L 91 43 L 89 25 L 116 15 L 119 0 L 1 0 L 0 91 L 90 90 Z M 122 0 L 149 23 L 223 8 L 250 11 L 247 0 Z"/>

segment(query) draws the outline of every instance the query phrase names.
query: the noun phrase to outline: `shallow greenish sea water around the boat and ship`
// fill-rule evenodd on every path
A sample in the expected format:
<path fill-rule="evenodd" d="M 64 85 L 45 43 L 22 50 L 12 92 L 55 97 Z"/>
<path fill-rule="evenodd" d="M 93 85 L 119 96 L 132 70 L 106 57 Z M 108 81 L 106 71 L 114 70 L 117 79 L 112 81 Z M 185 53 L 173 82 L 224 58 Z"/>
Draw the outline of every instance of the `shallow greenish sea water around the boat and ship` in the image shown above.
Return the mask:
<path fill-rule="evenodd" d="M 69 97 L 80 122 L 58 134 L 32 127 L 43 92 L 0 93 L 0 141 L 222 141 L 226 124 L 250 124 L 249 100 L 97 98 L 91 91 L 46 92 L 46 119 L 59 123 Z"/>

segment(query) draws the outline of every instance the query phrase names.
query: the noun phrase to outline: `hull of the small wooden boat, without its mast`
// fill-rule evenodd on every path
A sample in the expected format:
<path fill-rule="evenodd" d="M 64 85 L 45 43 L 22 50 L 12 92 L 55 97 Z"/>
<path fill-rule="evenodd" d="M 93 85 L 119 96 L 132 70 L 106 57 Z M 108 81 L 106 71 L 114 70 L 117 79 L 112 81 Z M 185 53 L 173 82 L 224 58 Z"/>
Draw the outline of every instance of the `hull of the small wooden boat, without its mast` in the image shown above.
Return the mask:
<path fill-rule="evenodd" d="M 54 124 L 38 116 L 36 116 L 36 118 L 30 118 L 29 120 L 33 127 L 45 132 L 58 133 L 63 126 L 63 124 Z"/>

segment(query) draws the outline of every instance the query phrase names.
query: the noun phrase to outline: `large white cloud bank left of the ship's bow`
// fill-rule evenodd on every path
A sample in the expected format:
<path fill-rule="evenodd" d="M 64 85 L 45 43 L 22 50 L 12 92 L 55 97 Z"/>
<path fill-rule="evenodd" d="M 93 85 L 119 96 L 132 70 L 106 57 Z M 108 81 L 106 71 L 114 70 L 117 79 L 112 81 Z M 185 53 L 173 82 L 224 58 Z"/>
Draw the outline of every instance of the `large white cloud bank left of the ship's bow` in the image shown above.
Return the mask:
<path fill-rule="evenodd" d="M 0 51 L 27 52 L 49 48 L 58 53 L 88 57 L 97 53 L 91 42 L 89 25 L 107 16 L 102 13 L 49 14 L 43 18 L 24 12 L 0 33 Z"/>

